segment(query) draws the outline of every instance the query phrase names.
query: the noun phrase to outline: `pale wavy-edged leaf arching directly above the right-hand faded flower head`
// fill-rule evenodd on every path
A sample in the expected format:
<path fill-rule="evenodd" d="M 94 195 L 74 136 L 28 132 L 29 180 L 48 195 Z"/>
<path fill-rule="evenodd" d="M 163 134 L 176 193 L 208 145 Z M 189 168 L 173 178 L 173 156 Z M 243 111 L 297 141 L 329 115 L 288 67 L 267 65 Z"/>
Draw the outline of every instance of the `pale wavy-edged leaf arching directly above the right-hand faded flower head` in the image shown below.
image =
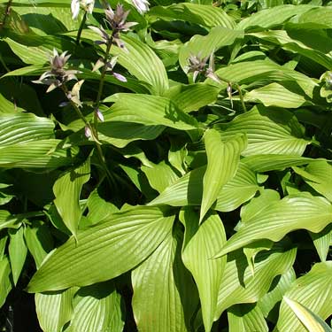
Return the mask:
<path fill-rule="evenodd" d="M 237 38 L 243 38 L 243 31 L 227 27 L 214 27 L 208 35 L 193 36 L 181 47 L 179 62 L 182 69 L 187 72 L 186 67 L 189 65 L 190 55 L 199 55 L 201 58 L 209 56 L 221 47 L 233 44 Z"/>

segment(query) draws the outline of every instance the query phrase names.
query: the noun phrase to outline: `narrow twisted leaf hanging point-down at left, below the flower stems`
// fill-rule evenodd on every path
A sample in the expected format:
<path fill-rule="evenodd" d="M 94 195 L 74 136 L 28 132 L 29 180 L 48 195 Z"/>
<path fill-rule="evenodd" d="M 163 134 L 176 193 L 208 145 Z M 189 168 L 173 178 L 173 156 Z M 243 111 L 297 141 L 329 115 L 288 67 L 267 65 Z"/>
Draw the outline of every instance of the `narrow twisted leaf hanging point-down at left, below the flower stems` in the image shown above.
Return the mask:
<path fill-rule="evenodd" d="M 83 184 L 90 178 L 90 159 L 61 175 L 53 186 L 54 204 L 66 227 L 76 237 L 81 220 L 80 197 Z"/>

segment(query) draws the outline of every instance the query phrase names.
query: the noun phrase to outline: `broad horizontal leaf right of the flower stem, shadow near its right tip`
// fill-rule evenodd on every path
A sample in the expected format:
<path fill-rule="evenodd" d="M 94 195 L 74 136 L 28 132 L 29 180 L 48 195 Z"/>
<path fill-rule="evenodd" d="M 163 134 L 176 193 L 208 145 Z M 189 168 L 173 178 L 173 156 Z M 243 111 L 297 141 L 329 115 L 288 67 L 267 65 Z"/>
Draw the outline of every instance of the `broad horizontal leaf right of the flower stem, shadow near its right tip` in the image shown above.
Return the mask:
<path fill-rule="evenodd" d="M 104 112 L 104 120 L 107 122 L 134 122 L 144 126 L 161 125 L 180 130 L 197 128 L 197 120 L 182 112 L 166 97 L 120 93 L 106 98 L 104 102 L 114 102 Z"/>

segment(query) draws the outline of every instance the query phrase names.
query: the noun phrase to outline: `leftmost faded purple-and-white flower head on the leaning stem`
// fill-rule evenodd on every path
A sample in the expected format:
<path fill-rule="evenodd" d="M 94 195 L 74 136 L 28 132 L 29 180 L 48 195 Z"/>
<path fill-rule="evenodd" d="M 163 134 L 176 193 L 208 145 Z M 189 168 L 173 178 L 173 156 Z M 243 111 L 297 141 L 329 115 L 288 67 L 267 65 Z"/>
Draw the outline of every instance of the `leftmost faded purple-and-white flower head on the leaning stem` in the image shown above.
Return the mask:
<path fill-rule="evenodd" d="M 76 73 L 80 73 L 78 70 L 65 70 L 66 62 L 71 57 L 70 54 L 66 55 L 66 51 L 61 55 L 58 55 L 58 51 L 53 49 L 53 57 L 50 58 L 50 70 L 42 73 L 41 77 L 37 81 L 33 81 L 37 84 L 49 85 L 46 92 L 50 92 L 53 89 L 60 87 L 66 81 L 76 80 Z"/>

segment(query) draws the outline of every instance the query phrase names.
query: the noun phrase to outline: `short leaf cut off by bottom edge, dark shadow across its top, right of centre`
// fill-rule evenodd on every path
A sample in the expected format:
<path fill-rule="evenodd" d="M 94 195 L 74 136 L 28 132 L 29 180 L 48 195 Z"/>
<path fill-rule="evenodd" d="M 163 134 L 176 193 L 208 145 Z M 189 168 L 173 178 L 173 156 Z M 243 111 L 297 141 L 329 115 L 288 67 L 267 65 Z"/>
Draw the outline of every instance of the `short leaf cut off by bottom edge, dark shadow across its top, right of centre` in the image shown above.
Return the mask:
<path fill-rule="evenodd" d="M 268 332 L 263 313 L 258 306 L 233 305 L 228 309 L 229 332 Z"/>

